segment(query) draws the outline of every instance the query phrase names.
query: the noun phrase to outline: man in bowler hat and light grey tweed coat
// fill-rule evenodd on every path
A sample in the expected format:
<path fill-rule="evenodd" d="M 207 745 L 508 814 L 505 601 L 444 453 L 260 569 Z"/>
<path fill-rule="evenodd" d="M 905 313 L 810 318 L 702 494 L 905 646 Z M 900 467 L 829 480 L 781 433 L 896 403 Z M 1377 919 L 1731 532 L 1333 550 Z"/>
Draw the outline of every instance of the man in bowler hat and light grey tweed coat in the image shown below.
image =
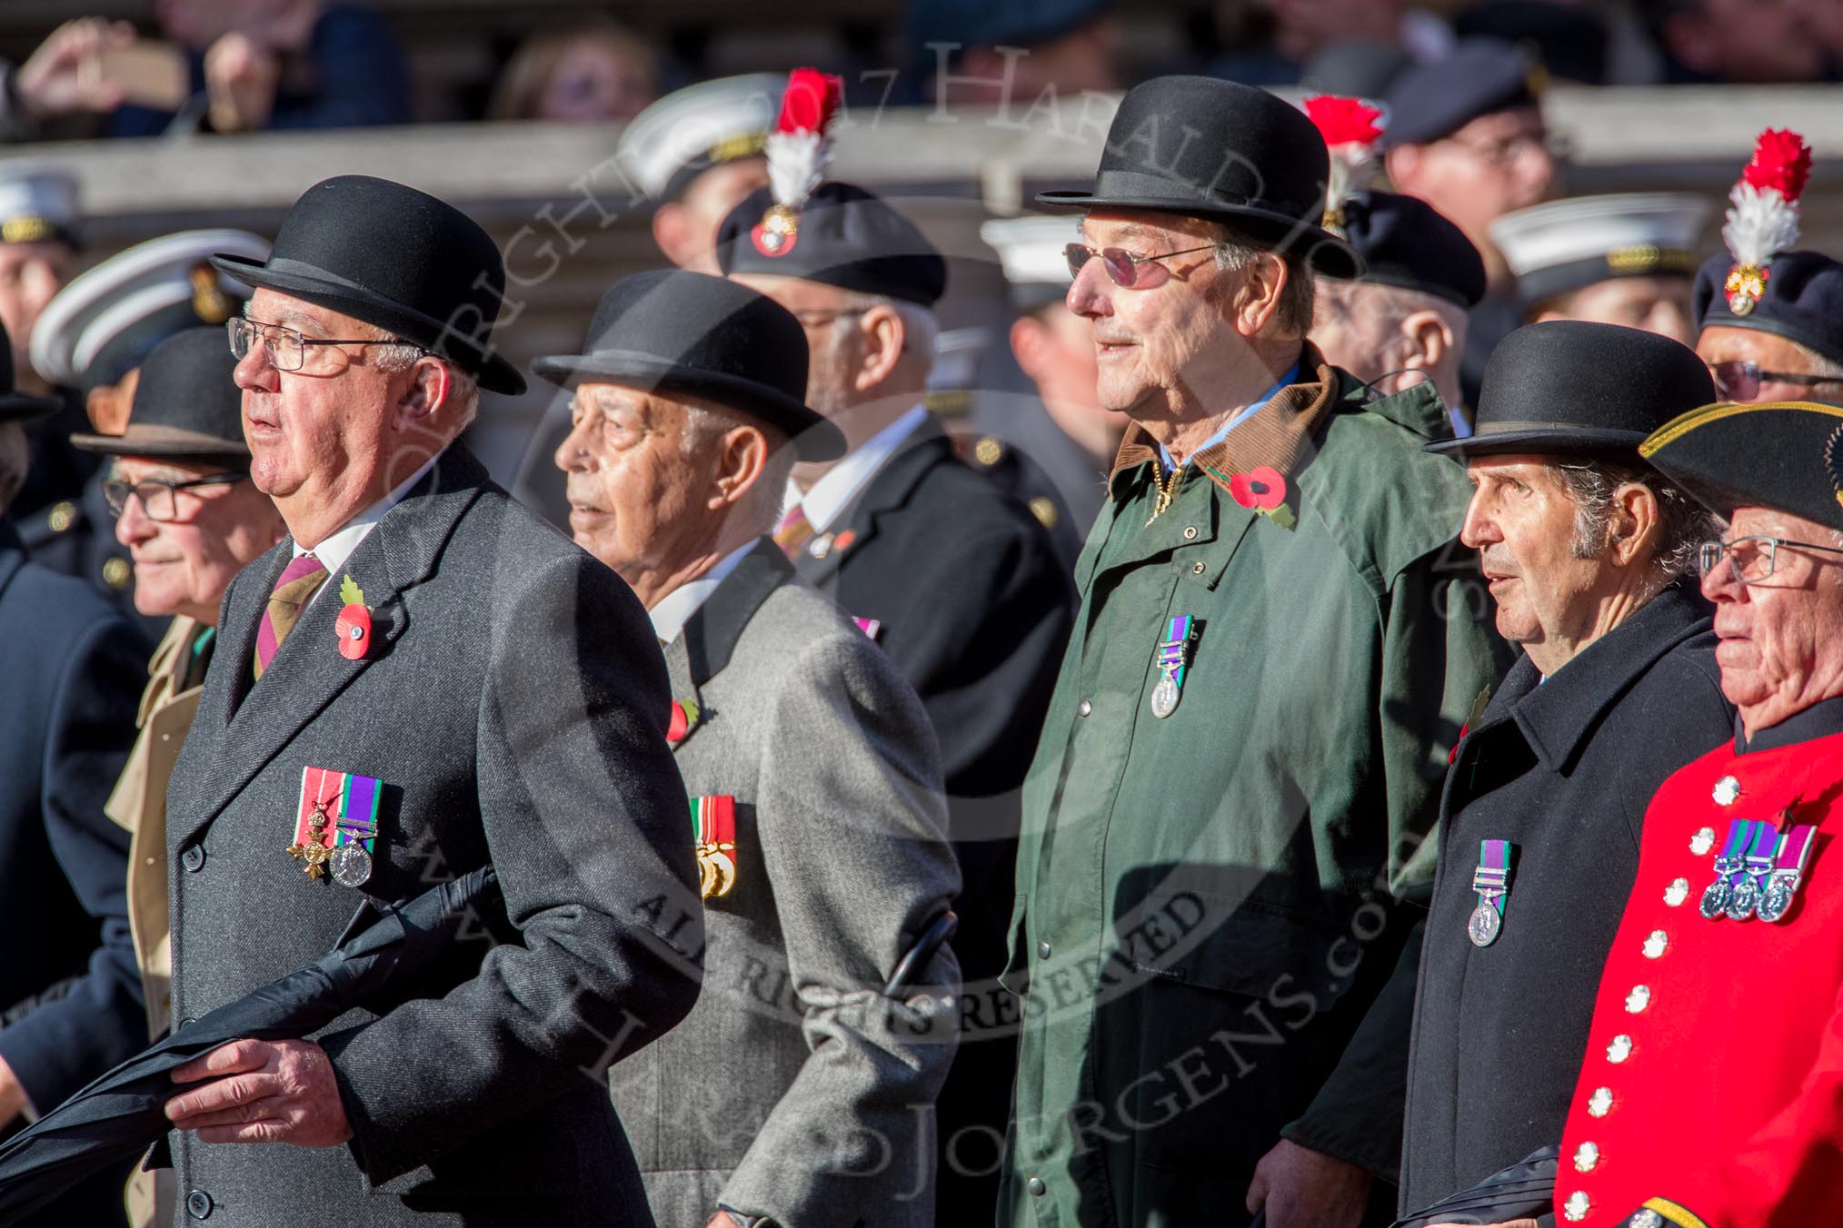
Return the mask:
<path fill-rule="evenodd" d="M 704 992 L 612 1073 L 652 1213 L 927 1228 L 953 954 L 881 989 L 960 876 L 927 712 L 769 538 L 794 457 L 844 451 L 804 403 L 805 333 L 735 282 L 641 272 L 534 370 L 571 388 L 575 539 L 665 641 L 704 827 Z"/>

